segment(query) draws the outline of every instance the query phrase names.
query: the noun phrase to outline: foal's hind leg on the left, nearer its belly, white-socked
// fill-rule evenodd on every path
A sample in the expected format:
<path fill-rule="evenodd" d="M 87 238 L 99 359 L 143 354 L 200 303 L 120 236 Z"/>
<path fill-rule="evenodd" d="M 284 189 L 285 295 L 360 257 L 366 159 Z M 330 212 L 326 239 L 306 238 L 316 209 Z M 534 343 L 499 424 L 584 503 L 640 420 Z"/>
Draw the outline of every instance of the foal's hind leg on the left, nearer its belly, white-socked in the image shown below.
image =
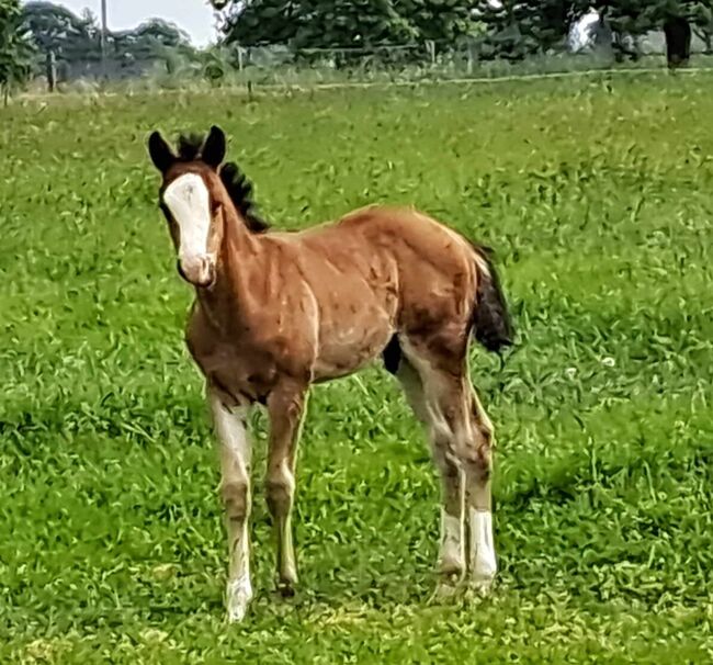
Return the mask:
<path fill-rule="evenodd" d="M 428 428 L 433 459 L 441 474 L 443 505 L 438 567 L 448 578 L 460 577 L 465 568 L 464 478 L 459 461 L 448 450 L 450 430 L 444 427 L 439 413 L 429 406 L 421 375 L 406 358 L 401 359 L 396 375 L 416 417 Z"/>

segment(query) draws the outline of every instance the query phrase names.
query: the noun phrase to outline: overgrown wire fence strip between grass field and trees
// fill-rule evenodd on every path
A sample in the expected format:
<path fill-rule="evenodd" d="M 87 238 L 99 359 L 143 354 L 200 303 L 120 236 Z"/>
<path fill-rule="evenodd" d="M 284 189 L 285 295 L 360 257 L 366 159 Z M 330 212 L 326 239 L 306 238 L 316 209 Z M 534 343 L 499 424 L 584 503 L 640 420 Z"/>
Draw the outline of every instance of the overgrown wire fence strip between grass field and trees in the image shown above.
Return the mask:
<path fill-rule="evenodd" d="M 146 57 L 112 54 L 107 61 L 76 58 L 54 67 L 57 89 L 91 90 L 131 86 L 176 89 L 186 84 L 242 87 L 248 90 L 274 87 L 337 87 L 488 80 L 508 77 L 558 75 L 606 70 L 666 68 L 663 35 L 640 38 L 635 58 L 618 61 L 611 46 L 573 50 L 558 49 L 522 58 L 484 57 L 482 43 L 464 40 L 455 44 L 435 42 L 352 48 L 213 47 L 206 50 L 157 48 Z M 713 53 L 698 40 L 692 44 L 690 66 L 713 68 Z M 47 84 L 49 75 L 38 76 L 34 89 Z"/>

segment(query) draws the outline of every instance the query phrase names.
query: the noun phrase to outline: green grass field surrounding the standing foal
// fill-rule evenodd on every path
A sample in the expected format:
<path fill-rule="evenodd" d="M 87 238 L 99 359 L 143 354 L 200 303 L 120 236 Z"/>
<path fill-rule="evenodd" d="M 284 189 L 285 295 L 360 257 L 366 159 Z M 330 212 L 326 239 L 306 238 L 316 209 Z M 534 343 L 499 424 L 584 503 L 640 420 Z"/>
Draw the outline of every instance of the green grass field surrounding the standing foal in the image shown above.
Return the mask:
<path fill-rule="evenodd" d="M 713 661 L 713 76 L 58 99 L 0 110 L 1 663 Z M 301 589 L 224 623 L 218 467 L 160 127 L 220 124 L 282 228 L 414 203 L 498 251 L 520 332 L 473 350 L 500 575 L 434 600 L 439 483 L 381 368 L 318 387 Z"/>

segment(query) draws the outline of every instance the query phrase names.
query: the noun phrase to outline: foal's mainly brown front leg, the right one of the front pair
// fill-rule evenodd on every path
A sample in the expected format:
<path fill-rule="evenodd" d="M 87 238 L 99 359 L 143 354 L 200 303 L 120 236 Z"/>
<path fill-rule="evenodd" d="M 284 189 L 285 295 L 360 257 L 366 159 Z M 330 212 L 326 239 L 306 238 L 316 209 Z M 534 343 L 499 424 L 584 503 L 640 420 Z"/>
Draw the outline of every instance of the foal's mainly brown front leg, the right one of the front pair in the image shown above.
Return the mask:
<path fill-rule="evenodd" d="M 285 596 L 294 593 L 297 583 L 291 517 L 297 443 L 306 401 L 307 386 L 296 382 L 280 384 L 268 397 L 270 442 L 265 489 L 278 541 L 278 584 Z"/>

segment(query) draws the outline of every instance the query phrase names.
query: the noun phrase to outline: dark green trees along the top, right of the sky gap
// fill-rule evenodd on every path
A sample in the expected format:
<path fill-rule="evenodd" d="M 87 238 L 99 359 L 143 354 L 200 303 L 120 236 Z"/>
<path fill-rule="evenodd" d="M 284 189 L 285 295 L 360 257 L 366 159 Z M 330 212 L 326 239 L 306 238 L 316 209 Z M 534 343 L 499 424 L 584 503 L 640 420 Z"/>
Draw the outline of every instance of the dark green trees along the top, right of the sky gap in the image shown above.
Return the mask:
<path fill-rule="evenodd" d="M 211 0 L 227 43 L 290 45 L 295 50 L 374 48 L 435 42 L 453 47 L 477 38 L 480 57 L 522 59 L 562 46 L 571 26 L 591 11 L 612 46 L 636 57 L 626 36 L 666 35 L 669 64 L 690 56 L 692 31 L 710 45 L 711 0 Z"/>

